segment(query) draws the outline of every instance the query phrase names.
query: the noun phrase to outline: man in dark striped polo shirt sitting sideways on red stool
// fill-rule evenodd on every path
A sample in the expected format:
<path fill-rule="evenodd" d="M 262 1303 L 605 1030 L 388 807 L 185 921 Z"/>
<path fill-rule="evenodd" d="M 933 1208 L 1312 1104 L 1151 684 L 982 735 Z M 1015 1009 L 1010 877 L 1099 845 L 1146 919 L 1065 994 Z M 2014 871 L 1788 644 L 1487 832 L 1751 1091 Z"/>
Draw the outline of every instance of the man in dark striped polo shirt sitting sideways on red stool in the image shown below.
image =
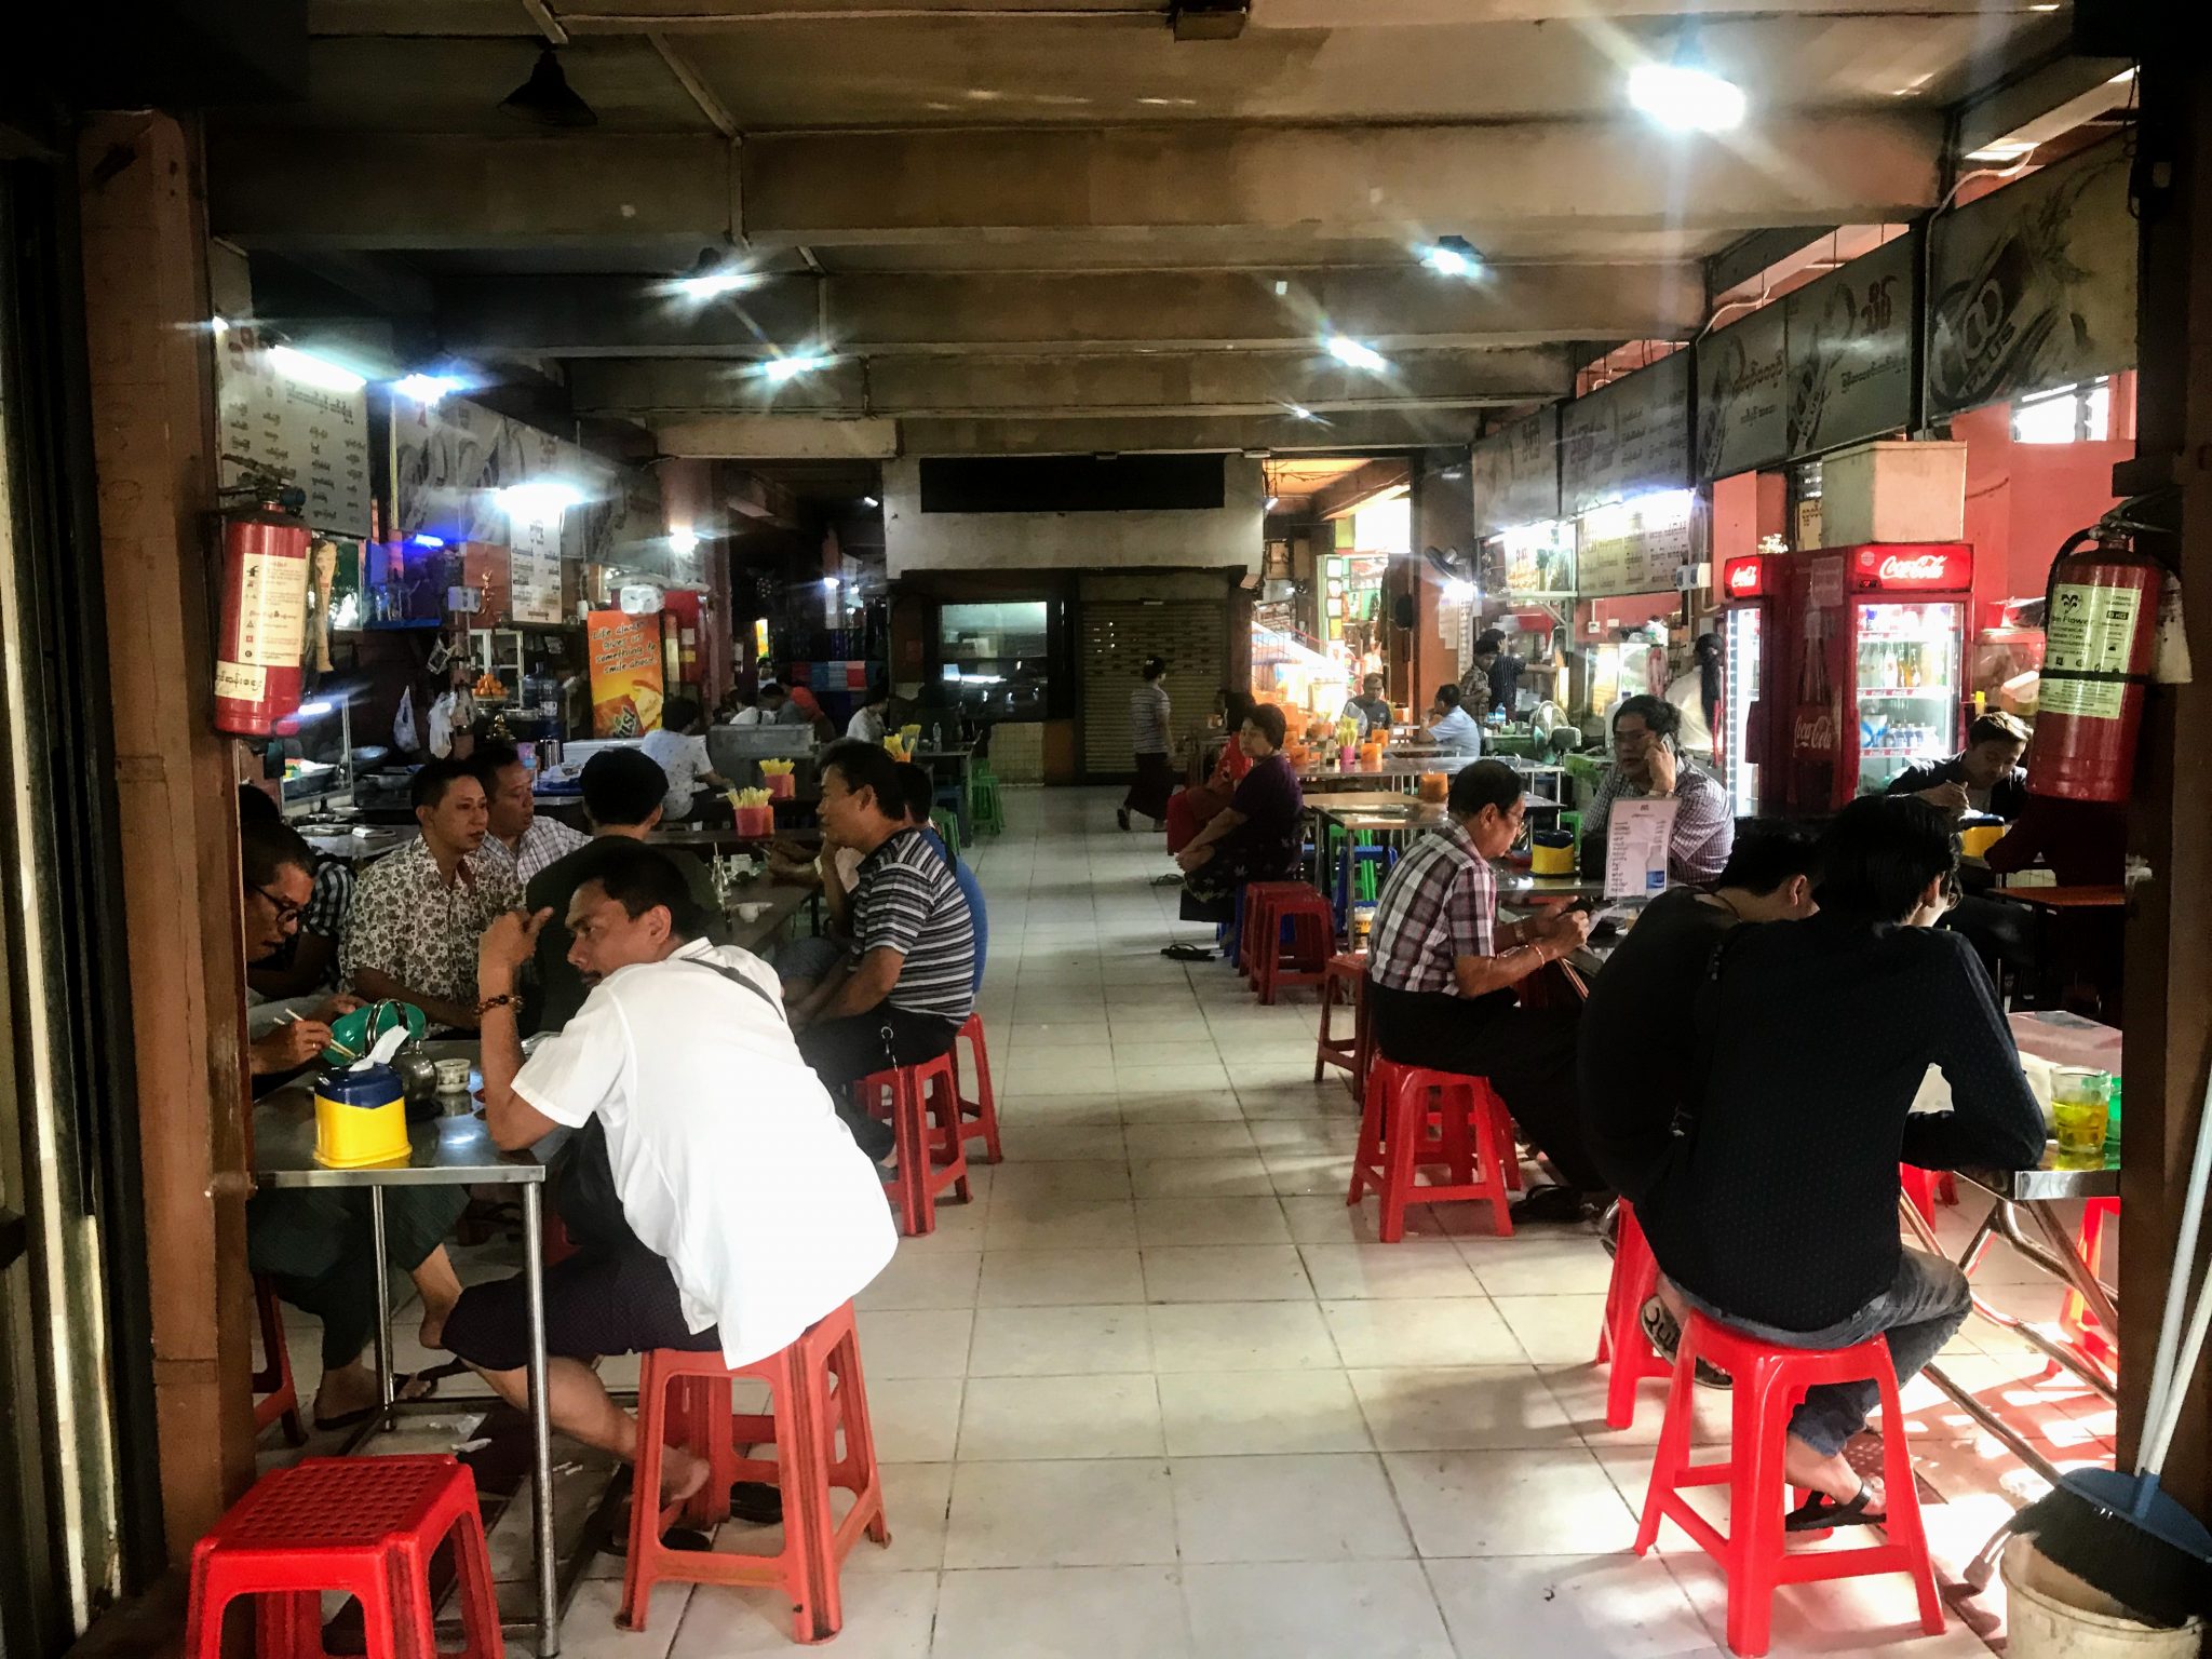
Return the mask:
<path fill-rule="evenodd" d="M 821 765 L 823 834 L 863 854 L 852 953 L 792 1011 L 799 1053 L 827 1088 L 936 1060 L 975 1006 L 975 927 L 931 838 L 907 823 L 898 763 L 874 743 L 834 743 Z M 891 1128 L 847 1115 L 869 1157 Z"/>

